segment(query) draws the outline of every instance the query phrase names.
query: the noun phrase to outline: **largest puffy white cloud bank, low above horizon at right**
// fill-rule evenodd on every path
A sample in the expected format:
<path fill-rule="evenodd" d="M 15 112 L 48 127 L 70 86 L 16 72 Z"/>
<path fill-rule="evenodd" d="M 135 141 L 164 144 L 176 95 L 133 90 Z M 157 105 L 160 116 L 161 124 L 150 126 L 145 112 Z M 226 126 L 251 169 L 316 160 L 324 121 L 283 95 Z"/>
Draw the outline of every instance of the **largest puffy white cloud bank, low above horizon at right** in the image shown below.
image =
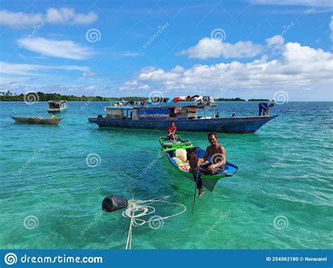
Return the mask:
<path fill-rule="evenodd" d="M 218 95 L 219 89 L 226 85 L 233 89 L 276 91 L 281 88 L 310 88 L 329 91 L 333 83 L 332 66 L 332 53 L 289 42 L 283 46 L 279 58 L 274 60 L 262 57 L 247 63 L 233 61 L 194 65 L 189 69 L 178 66 L 169 72 L 146 67 L 131 83 L 137 81 L 137 85 L 152 84 L 152 88 L 161 91 L 216 92 L 214 95 Z M 135 88 L 138 86 L 131 86 L 131 90 Z"/>

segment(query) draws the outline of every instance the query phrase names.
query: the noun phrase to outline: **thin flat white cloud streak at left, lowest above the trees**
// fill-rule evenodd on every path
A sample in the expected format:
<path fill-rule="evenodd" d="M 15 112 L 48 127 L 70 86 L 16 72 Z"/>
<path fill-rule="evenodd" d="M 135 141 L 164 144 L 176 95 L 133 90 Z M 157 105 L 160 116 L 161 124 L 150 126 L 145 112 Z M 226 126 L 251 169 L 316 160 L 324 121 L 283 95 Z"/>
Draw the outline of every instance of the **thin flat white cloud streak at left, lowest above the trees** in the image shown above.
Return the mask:
<path fill-rule="evenodd" d="M 28 65 L 28 64 L 15 64 L 8 62 L 0 62 L 0 73 L 2 74 L 21 74 L 21 75 L 31 75 L 33 72 L 42 69 L 63 69 L 67 71 L 81 71 L 89 72 L 89 67 L 77 66 L 77 65 Z"/>

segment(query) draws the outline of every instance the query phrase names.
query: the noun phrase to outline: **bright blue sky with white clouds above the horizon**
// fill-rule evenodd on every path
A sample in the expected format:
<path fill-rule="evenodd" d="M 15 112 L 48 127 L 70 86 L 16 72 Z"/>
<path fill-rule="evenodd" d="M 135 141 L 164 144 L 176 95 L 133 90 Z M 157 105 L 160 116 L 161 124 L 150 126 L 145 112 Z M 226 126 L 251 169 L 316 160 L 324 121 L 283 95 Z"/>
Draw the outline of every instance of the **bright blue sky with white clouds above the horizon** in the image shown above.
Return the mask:
<path fill-rule="evenodd" d="M 0 86 L 332 100 L 332 13 L 325 0 L 2 1 Z"/>

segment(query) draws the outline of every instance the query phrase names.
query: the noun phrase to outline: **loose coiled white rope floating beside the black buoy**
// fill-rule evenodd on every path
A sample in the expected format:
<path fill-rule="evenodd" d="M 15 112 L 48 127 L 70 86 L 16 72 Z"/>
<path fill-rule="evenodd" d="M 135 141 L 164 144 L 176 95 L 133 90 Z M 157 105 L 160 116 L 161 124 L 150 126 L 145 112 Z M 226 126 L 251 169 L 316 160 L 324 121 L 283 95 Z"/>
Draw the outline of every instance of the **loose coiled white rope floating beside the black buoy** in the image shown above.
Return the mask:
<path fill-rule="evenodd" d="M 132 227 L 137 227 L 141 225 L 145 225 L 148 222 L 154 222 L 154 221 L 161 221 L 164 219 L 167 219 L 169 217 L 175 217 L 177 215 L 180 215 L 181 213 L 184 213 L 186 210 L 186 207 L 181 203 L 174 203 L 169 202 L 163 199 L 167 199 L 170 196 L 162 196 L 158 197 L 156 199 L 150 199 L 150 200 L 135 200 L 134 194 L 132 192 L 133 199 L 129 200 L 128 204 L 129 206 L 126 208 L 126 210 L 122 213 L 123 217 L 129 217 L 131 219 L 131 223 L 129 225 L 129 235 L 127 236 L 127 242 L 126 242 L 126 249 L 131 249 L 132 246 Z M 152 213 L 155 213 L 155 208 L 153 206 L 148 206 L 152 203 L 169 203 L 171 205 L 181 206 L 183 207 L 183 210 L 179 213 L 171 214 L 165 217 L 157 217 L 152 220 L 143 220 L 141 217 L 150 215 Z"/>

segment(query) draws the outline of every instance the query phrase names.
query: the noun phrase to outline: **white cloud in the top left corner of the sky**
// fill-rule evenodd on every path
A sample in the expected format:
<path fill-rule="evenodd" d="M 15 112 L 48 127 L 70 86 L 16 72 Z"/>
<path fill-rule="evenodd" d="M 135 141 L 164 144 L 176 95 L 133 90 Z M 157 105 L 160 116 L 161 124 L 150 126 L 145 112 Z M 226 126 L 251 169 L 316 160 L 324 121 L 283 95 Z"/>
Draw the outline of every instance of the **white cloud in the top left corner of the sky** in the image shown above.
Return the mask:
<path fill-rule="evenodd" d="M 48 8 L 45 14 L 0 11 L 0 25 L 13 28 L 37 25 L 41 22 L 63 25 L 88 25 L 95 22 L 98 16 L 91 11 L 88 14 L 75 13 L 74 8 Z"/>

